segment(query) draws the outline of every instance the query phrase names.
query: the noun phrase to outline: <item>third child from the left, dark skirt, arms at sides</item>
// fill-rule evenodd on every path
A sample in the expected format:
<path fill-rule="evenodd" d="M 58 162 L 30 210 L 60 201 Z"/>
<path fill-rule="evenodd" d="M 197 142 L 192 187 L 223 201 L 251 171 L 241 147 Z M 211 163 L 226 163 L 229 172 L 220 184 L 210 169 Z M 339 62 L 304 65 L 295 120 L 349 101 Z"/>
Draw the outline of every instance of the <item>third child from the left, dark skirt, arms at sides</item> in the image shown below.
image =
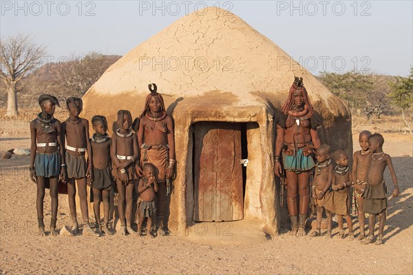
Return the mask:
<path fill-rule="evenodd" d="M 93 175 L 89 177 L 92 182 L 92 190 L 94 197 L 94 214 L 96 225 L 99 228 L 100 234 L 103 233 L 102 225 L 100 225 L 100 201 L 103 201 L 103 222 L 105 233 L 114 234 L 109 228 L 109 195 L 112 189 L 112 168 L 110 158 L 110 147 L 112 140 L 107 135 L 107 120 L 103 115 L 94 115 L 92 118 L 93 129 L 96 133 L 92 135 L 90 144 L 92 145 L 93 153 Z"/>

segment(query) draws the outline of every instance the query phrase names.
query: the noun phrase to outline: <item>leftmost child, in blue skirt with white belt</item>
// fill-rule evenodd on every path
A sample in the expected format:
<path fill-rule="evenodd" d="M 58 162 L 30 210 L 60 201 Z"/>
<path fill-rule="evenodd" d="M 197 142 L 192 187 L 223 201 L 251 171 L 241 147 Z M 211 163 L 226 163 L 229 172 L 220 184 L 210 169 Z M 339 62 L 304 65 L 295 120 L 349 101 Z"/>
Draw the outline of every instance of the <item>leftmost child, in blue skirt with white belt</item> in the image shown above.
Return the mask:
<path fill-rule="evenodd" d="M 63 157 L 61 146 L 61 122 L 53 118 L 56 105 L 59 101 L 50 94 L 39 97 L 41 113 L 30 122 L 30 179 L 37 185 L 36 210 L 39 222 L 39 235 L 45 235 L 43 223 L 43 199 L 45 198 L 45 183 L 50 181 L 50 197 L 52 198 L 52 219 L 50 220 L 50 234 L 56 232 L 57 207 L 59 197 L 57 195 L 59 174 L 61 173 L 60 159 Z"/>

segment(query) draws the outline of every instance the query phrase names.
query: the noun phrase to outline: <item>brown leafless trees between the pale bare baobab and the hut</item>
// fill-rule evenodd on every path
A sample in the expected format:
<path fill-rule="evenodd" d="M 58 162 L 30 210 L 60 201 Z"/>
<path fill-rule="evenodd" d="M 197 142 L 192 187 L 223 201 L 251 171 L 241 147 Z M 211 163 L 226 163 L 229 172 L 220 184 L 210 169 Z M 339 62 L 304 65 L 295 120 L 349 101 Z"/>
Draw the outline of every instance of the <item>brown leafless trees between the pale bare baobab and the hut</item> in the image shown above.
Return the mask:
<path fill-rule="evenodd" d="M 56 66 L 56 81 L 70 96 L 82 97 L 119 56 L 104 56 L 90 52 L 83 57 L 72 57 L 70 61 Z"/>

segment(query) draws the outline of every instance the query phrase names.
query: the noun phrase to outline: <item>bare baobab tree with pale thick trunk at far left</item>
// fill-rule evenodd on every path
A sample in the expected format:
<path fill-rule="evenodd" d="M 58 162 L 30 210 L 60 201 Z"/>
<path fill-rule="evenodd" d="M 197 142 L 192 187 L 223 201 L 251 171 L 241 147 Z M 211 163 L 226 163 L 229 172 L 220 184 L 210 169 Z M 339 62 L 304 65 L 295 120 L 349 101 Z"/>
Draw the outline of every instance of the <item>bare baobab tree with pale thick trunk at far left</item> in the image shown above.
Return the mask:
<path fill-rule="evenodd" d="M 10 116 L 19 114 L 17 91 L 21 80 L 39 68 L 45 54 L 43 45 L 36 45 L 31 36 L 16 34 L 0 42 L 0 78 L 7 89 L 7 111 Z"/>

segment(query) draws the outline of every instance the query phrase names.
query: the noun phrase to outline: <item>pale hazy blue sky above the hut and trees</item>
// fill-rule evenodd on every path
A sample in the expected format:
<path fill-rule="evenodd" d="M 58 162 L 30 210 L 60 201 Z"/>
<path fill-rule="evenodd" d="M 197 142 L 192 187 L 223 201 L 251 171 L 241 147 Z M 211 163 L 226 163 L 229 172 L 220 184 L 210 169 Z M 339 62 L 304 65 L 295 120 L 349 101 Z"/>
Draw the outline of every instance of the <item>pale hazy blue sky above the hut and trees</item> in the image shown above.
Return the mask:
<path fill-rule="evenodd" d="M 413 1 L 0 1 L 1 37 L 32 34 L 48 60 L 123 55 L 187 13 L 230 10 L 311 73 L 405 76 L 413 65 Z M 59 59 L 60 58 L 60 59 Z"/>

